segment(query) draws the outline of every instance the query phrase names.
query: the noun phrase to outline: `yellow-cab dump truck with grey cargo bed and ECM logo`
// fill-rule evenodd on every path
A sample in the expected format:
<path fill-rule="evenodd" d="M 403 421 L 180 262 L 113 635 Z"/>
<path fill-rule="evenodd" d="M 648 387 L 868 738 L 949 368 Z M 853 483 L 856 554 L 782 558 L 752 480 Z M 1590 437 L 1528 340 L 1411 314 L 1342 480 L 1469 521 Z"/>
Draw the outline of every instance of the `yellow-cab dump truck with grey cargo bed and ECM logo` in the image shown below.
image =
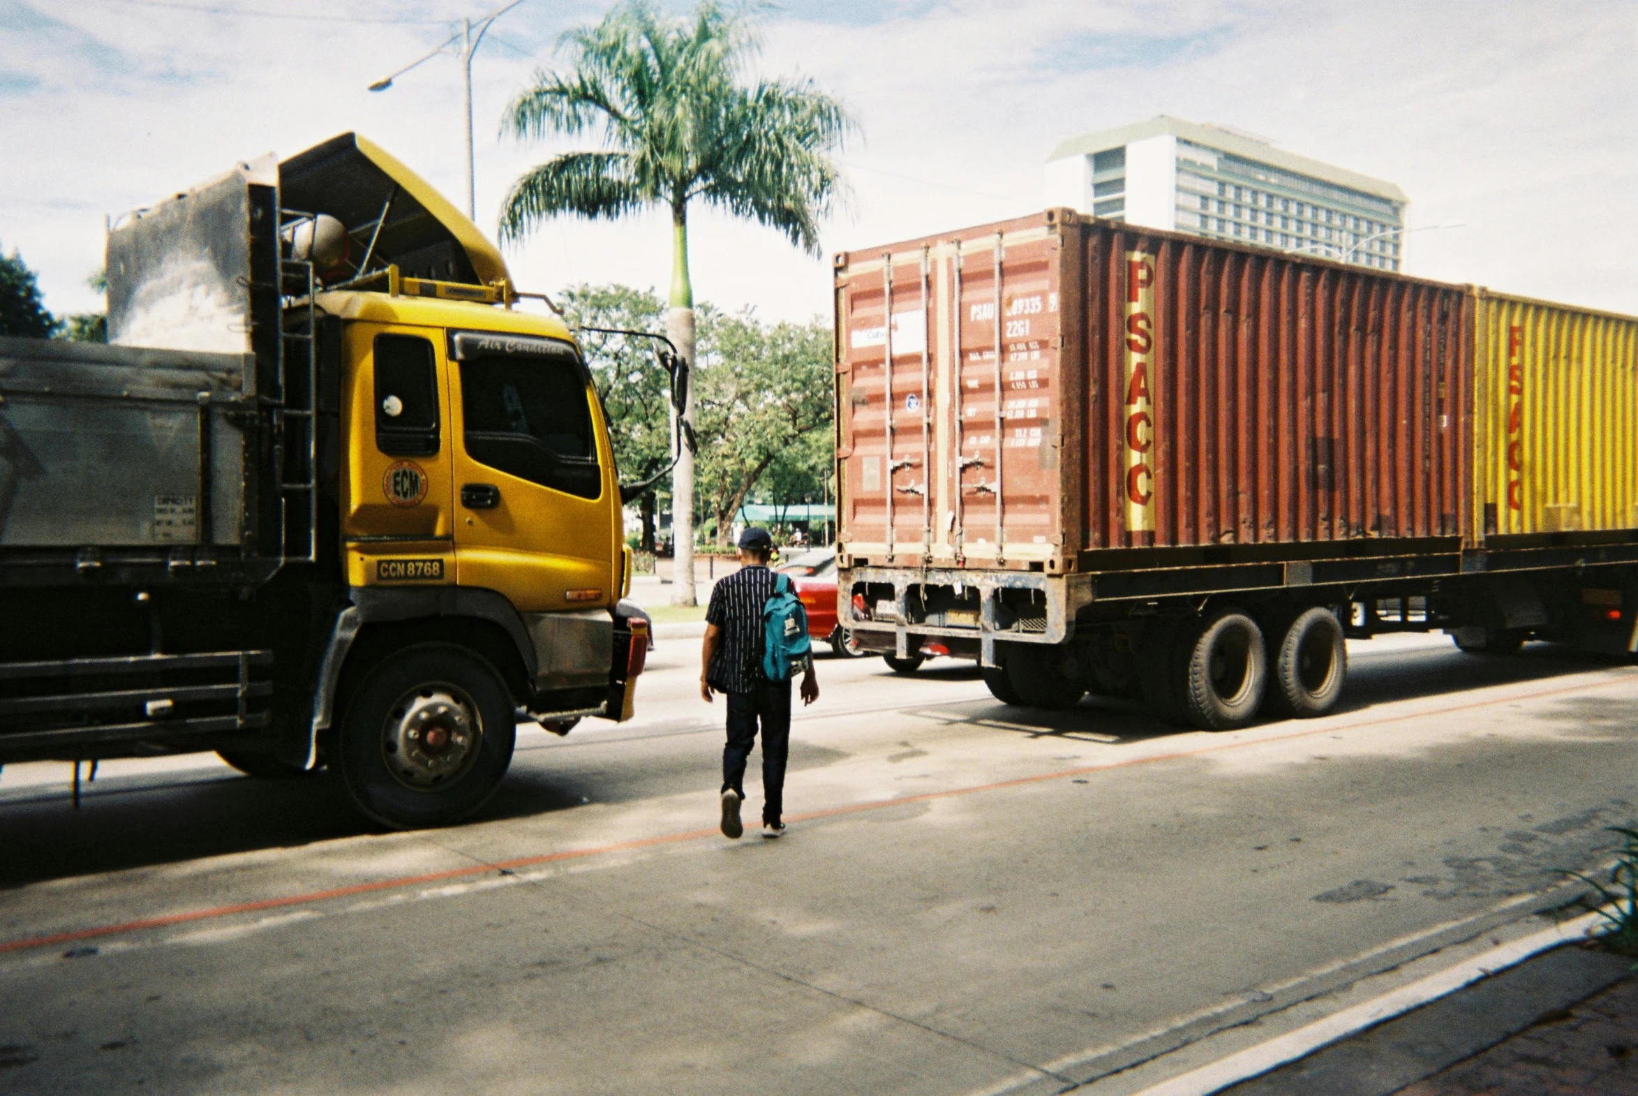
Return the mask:
<path fill-rule="evenodd" d="M 106 259 L 108 346 L 0 339 L 0 763 L 216 750 L 436 826 L 519 719 L 631 718 L 644 485 L 470 220 L 349 133 Z"/>

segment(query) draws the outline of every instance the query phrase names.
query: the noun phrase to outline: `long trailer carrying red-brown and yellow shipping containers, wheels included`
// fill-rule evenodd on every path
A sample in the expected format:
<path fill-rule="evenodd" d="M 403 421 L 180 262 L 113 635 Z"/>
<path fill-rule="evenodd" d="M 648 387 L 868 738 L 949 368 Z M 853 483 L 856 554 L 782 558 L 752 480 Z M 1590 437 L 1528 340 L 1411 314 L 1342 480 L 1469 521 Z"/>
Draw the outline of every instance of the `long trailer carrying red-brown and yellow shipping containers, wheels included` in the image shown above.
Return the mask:
<path fill-rule="evenodd" d="M 1071 210 L 835 257 L 839 619 L 1002 701 L 1330 711 L 1348 637 L 1638 650 L 1638 319 Z"/>

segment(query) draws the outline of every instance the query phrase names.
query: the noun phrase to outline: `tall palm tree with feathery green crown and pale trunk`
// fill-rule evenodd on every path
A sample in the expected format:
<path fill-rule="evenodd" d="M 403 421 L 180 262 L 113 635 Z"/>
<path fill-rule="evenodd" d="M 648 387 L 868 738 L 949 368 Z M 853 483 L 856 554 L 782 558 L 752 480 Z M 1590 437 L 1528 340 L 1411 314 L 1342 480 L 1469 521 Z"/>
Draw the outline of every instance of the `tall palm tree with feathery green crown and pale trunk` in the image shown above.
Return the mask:
<path fill-rule="evenodd" d="M 570 72 L 537 72 L 506 110 L 519 139 L 591 131 L 603 149 L 563 152 L 518 179 L 501 206 L 501 238 L 521 241 L 559 213 L 618 218 L 650 206 L 672 213 L 667 334 L 695 360 L 695 292 L 688 279 L 688 205 L 701 202 L 783 233 L 817 256 L 819 223 L 842 183 L 829 152 L 853 121 L 811 80 L 742 82 L 758 39 L 739 11 L 706 0 L 667 20 L 627 0 L 601 23 L 570 31 Z M 693 396 L 683 408 L 693 424 Z M 695 605 L 693 454 L 672 473 L 672 600 Z"/>

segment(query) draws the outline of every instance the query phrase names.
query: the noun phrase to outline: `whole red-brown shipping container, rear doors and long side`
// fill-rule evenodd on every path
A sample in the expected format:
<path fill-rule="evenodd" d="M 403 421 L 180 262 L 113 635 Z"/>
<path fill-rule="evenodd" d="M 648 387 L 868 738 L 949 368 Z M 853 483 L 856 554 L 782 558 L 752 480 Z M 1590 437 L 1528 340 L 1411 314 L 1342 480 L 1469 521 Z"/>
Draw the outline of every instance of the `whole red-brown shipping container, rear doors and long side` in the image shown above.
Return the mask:
<path fill-rule="evenodd" d="M 1471 541 L 1458 287 L 1048 210 L 839 256 L 835 293 L 847 557 Z"/>

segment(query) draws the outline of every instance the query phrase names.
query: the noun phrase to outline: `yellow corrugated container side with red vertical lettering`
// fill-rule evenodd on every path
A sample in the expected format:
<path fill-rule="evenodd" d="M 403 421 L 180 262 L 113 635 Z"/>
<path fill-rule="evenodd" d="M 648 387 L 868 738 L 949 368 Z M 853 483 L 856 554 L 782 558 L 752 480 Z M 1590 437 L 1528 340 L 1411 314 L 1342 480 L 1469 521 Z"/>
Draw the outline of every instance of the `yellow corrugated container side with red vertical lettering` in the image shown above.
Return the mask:
<path fill-rule="evenodd" d="M 1638 528 L 1638 319 L 1477 293 L 1486 537 Z"/>

